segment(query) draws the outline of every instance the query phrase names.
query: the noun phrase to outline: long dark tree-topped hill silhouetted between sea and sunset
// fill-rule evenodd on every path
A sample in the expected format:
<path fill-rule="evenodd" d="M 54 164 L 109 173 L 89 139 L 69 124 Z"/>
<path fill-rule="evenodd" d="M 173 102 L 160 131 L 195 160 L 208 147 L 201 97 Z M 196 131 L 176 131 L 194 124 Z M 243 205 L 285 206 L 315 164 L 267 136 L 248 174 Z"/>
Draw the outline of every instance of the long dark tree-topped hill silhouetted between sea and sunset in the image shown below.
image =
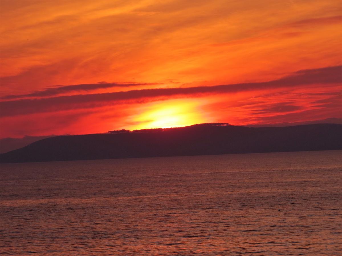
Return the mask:
<path fill-rule="evenodd" d="M 249 128 L 200 124 L 108 134 L 57 136 L 0 154 L 0 162 L 39 162 L 340 150 L 342 125 Z"/>

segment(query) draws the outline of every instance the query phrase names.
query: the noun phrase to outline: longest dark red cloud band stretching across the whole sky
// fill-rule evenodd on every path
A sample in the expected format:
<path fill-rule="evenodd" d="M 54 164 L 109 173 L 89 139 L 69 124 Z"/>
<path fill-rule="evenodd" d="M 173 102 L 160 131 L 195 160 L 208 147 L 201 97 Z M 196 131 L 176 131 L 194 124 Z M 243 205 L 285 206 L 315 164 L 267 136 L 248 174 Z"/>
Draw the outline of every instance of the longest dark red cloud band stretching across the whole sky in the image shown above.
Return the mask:
<path fill-rule="evenodd" d="M 21 99 L 2 101 L 1 115 L 15 116 L 60 110 L 93 108 L 127 100 L 144 98 L 171 99 L 177 97 L 199 97 L 204 94 L 238 93 L 265 89 L 305 86 L 310 84 L 334 84 L 342 81 L 342 66 L 300 70 L 281 79 L 258 83 L 240 83 L 217 86 L 199 86 L 187 88 L 159 88 L 121 91 L 115 93 L 59 96 L 40 99 Z"/>

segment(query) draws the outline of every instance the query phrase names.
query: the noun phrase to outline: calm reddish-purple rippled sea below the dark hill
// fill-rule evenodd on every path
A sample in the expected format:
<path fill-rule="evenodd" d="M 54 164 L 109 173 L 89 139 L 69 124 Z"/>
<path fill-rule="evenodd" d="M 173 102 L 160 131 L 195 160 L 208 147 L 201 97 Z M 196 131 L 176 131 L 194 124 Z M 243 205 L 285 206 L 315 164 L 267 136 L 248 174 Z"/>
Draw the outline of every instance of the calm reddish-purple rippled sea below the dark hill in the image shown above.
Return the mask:
<path fill-rule="evenodd" d="M 0 253 L 332 255 L 342 151 L 0 165 Z"/>

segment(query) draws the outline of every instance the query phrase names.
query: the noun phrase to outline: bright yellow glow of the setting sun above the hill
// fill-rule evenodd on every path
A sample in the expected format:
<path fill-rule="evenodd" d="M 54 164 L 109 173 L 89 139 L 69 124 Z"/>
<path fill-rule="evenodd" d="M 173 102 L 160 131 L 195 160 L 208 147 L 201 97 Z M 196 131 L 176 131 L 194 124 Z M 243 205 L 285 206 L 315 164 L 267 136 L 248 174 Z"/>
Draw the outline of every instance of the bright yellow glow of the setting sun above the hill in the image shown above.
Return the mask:
<path fill-rule="evenodd" d="M 170 128 L 203 123 L 205 121 L 196 108 L 197 104 L 180 100 L 152 104 L 133 118 L 138 125 L 131 129 Z"/>

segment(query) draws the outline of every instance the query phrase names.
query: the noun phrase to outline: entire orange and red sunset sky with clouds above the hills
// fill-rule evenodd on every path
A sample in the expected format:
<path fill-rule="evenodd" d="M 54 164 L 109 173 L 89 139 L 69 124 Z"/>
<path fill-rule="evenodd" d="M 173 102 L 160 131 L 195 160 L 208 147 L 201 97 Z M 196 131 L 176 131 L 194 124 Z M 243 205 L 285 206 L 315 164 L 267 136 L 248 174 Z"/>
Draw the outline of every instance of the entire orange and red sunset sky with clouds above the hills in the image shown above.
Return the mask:
<path fill-rule="evenodd" d="M 0 138 L 342 117 L 340 0 L 0 2 Z"/>

